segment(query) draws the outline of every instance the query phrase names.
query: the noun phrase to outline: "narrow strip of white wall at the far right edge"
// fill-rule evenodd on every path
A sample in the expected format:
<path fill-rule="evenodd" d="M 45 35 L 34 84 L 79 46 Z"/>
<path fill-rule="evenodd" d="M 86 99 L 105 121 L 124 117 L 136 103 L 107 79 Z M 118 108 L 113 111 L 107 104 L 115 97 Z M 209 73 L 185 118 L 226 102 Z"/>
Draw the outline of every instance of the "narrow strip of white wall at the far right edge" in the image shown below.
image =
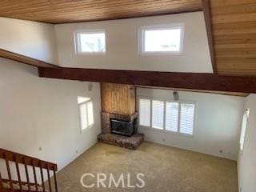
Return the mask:
<path fill-rule="evenodd" d="M 246 98 L 246 109 L 250 109 L 246 139 L 238 158 L 238 180 L 240 192 L 256 191 L 256 94 Z"/>

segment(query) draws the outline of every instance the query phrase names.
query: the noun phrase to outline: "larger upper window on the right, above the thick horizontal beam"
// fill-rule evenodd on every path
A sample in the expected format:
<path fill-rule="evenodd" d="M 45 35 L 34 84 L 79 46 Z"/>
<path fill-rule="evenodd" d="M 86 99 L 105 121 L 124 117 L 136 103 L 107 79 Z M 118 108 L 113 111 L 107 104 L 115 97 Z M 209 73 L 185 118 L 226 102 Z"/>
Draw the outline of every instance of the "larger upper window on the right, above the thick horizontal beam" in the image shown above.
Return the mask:
<path fill-rule="evenodd" d="M 182 52 L 184 26 L 146 26 L 141 29 L 141 54 L 178 54 Z"/>

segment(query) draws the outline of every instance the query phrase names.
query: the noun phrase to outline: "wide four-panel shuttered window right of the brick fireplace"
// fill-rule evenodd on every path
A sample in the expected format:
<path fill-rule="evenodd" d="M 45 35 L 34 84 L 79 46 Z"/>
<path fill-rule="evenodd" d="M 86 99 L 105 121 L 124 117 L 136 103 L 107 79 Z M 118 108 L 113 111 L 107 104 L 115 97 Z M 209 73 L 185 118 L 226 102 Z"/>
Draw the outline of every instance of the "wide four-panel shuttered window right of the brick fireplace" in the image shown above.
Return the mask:
<path fill-rule="evenodd" d="M 193 135 L 194 111 L 194 102 L 139 98 L 139 125 Z"/>

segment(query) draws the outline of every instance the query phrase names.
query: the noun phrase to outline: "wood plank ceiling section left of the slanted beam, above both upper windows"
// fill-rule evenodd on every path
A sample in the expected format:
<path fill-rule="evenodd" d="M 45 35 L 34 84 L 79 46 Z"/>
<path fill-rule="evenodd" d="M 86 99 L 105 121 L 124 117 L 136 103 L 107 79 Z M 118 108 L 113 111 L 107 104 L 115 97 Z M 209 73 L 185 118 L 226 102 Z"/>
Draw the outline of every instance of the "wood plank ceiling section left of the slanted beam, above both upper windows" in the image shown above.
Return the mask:
<path fill-rule="evenodd" d="M 201 0 L 0 1 L 0 16 L 37 22 L 87 22 L 202 10 Z"/>

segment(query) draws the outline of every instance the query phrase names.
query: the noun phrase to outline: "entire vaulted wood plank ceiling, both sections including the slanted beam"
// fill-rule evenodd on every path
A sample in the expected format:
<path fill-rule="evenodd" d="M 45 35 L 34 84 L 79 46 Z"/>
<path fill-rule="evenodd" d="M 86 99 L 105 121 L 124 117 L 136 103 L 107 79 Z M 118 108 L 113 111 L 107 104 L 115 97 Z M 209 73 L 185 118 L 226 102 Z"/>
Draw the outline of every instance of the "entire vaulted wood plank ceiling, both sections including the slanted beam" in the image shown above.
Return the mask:
<path fill-rule="evenodd" d="M 217 74 L 256 76 L 256 0 L 2 0 L 0 16 L 88 22 L 203 10 Z M 198 53 L 199 54 L 199 53 Z"/>

